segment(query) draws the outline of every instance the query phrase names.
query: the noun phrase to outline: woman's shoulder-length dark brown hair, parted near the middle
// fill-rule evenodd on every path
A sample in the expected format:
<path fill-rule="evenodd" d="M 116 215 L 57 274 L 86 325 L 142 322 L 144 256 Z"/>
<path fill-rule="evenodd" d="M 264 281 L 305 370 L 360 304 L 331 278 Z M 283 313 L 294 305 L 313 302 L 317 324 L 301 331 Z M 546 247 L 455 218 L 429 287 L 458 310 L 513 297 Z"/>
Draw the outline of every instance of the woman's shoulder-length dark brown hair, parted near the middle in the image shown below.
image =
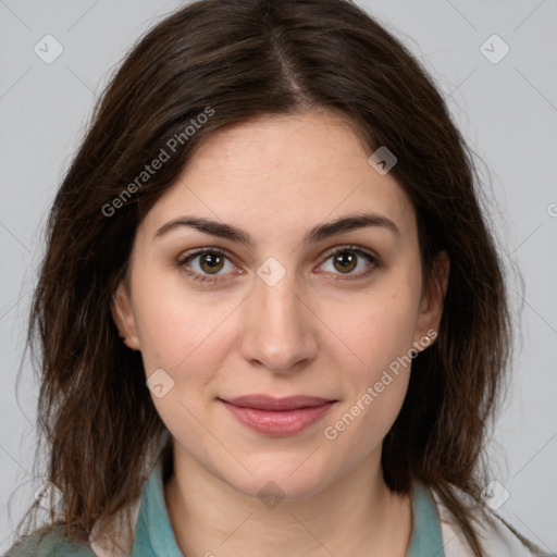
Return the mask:
<path fill-rule="evenodd" d="M 208 107 L 211 117 L 186 139 Z M 346 0 L 191 3 L 141 38 L 99 99 L 50 212 L 28 331 L 39 348 L 48 480 L 63 494 L 41 532 L 57 525 L 86 541 L 94 525 L 108 529 L 140 495 L 146 458 L 165 438 L 140 354 L 123 345 L 110 312 L 143 215 L 214 131 L 312 107 L 342 111 L 370 154 L 386 146 L 398 158 L 391 172 L 417 213 L 424 278 L 441 250 L 450 258 L 438 337 L 413 360 L 382 466 L 393 491 L 408 493 L 413 480 L 435 488 L 484 555 L 473 525 L 482 455 L 510 357 L 503 264 L 471 151 L 432 78 Z M 180 148 L 131 187 L 178 134 Z M 107 209 L 116 198 L 117 210 Z"/>

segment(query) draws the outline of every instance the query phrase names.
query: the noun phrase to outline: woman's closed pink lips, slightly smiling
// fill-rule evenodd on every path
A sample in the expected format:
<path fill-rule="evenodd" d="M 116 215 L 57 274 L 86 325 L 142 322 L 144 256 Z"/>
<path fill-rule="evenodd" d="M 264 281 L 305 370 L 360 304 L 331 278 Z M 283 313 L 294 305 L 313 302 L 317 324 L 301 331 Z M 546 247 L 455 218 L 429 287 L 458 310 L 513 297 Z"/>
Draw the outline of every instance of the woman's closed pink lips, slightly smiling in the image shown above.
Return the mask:
<path fill-rule="evenodd" d="M 336 400 L 314 396 L 248 395 L 219 399 L 244 425 L 271 436 L 293 435 L 322 418 Z"/>

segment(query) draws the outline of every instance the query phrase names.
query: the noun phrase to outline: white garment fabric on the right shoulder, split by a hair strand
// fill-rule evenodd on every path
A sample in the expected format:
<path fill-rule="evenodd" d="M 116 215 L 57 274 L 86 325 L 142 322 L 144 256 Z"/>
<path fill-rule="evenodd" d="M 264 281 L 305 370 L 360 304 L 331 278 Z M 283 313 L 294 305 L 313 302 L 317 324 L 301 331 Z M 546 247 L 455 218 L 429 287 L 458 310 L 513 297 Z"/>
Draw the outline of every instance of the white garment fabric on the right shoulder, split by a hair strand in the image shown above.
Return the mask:
<path fill-rule="evenodd" d="M 466 537 L 450 510 L 432 490 L 440 515 L 441 533 L 445 557 L 471 557 L 472 553 Z M 519 534 L 497 513 L 487 509 L 486 518 L 481 521 L 478 534 L 490 557 L 542 557 L 542 549 Z M 550 557 L 550 556 L 548 556 Z"/>

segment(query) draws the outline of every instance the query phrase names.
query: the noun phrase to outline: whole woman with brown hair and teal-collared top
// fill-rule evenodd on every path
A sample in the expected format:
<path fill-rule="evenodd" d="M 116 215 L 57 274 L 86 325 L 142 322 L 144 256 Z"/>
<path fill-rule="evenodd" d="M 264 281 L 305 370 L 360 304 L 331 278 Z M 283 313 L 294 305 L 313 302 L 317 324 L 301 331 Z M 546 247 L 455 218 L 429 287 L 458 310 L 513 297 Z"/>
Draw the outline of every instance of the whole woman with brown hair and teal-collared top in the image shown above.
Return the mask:
<path fill-rule="evenodd" d="M 51 211 L 51 524 L 9 555 L 535 555 L 487 496 L 510 327 L 475 183 L 352 3 L 157 25 Z"/>

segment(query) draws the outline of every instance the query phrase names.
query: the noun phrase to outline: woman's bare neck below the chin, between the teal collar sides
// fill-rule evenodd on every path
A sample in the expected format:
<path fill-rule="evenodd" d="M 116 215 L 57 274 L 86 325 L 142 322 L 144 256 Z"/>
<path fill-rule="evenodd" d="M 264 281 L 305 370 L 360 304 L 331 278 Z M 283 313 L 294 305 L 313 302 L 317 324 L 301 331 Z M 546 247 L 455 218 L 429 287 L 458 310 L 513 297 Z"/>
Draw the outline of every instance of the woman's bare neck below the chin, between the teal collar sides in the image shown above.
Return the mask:
<path fill-rule="evenodd" d="M 186 556 L 208 557 L 405 557 L 412 528 L 410 497 L 388 490 L 380 461 L 379 450 L 311 497 L 265 505 L 175 451 L 164 492 L 178 547 Z"/>

